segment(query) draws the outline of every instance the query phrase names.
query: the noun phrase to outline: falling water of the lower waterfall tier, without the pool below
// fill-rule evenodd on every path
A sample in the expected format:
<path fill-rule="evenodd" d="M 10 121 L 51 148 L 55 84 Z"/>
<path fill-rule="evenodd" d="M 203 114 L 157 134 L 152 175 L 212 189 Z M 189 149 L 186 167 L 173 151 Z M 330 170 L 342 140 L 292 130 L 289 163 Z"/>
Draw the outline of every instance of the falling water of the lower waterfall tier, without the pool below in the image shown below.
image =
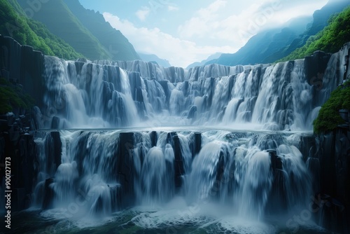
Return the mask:
<path fill-rule="evenodd" d="M 224 206 L 233 216 L 263 222 L 267 215 L 303 207 L 311 195 L 309 163 L 289 143 L 302 135 L 224 130 L 60 130 L 59 135 L 61 163 L 54 174 L 41 167 L 45 185 L 38 181 L 35 191 L 45 195 L 39 207 L 62 209 L 67 216 L 109 216 L 130 205 L 159 209 L 181 197 L 203 212 L 209 204 Z M 48 151 L 53 144 L 50 137 L 37 142 L 48 144 Z"/>

